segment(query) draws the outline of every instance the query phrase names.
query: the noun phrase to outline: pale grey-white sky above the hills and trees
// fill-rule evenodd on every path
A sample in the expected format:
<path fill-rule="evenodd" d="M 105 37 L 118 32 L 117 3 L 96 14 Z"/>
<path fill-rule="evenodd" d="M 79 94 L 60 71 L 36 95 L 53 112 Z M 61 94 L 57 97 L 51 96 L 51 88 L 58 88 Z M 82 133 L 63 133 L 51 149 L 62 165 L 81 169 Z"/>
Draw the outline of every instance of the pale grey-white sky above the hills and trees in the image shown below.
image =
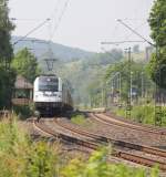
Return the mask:
<path fill-rule="evenodd" d="M 135 43 L 102 45 L 101 42 L 142 41 L 117 22 L 123 20 L 143 37 L 148 39 L 147 23 L 153 0 L 10 0 L 10 18 L 15 24 L 13 35 L 30 34 L 31 38 L 52 40 L 64 45 L 87 51 L 101 52 L 112 48 L 128 48 Z M 139 43 L 143 46 L 146 43 Z"/>

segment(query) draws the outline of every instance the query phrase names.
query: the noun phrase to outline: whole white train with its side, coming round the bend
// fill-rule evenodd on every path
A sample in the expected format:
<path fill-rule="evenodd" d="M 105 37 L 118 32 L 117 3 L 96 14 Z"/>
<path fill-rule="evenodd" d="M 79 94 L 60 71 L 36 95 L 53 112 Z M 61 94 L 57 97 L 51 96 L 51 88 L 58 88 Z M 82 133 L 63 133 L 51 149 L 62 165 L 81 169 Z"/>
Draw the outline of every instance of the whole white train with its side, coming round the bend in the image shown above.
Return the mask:
<path fill-rule="evenodd" d="M 69 83 L 56 75 L 41 75 L 35 79 L 33 102 L 35 111 L 44 115 L 73 110 Z"/>

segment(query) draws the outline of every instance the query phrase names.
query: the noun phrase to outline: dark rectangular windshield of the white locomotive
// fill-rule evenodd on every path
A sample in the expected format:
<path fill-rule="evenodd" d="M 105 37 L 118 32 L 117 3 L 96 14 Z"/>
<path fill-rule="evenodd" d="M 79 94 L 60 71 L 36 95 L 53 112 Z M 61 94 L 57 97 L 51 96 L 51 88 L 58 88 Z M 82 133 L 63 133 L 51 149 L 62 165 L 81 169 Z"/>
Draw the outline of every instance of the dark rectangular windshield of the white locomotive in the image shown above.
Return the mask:
<path fill-rule="evenodd" d="M 55 77 L 40 77 L 39 79 L 39 91 L 58 92 L 59 80 Z"/>

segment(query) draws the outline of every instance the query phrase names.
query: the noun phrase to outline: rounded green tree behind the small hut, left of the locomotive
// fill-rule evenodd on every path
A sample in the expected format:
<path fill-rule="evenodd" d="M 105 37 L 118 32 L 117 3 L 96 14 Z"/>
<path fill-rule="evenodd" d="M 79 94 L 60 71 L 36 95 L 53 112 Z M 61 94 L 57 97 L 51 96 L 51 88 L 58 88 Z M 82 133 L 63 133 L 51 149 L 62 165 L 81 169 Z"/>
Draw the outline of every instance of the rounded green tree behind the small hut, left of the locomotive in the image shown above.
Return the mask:
<path fill-rule="evenodd" d="M 38 61 L 27 48 L 15 54 L 12 67 L 15 69 L 18 74 L 24 76 L 30 82 L 33 82 L 37 75 L 40 74 Z"/>

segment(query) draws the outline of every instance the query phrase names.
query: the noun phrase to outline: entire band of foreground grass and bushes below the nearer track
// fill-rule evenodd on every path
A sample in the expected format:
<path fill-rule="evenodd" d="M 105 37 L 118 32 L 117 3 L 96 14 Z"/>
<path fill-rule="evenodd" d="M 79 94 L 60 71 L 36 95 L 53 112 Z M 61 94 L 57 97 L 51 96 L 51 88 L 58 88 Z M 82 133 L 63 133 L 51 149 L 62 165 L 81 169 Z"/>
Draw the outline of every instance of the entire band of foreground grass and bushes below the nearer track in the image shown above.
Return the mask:
<path fill-rule="evenodd" d="M 61 154 L 61 155 L 60 155 Z M 89 159 L 69 158 L 59 144 L 32 142 L 12 116 L 0 123 L 0 176 L 1 177 L 145 177 L 142 168 L 108 164 L 107 148 L 94 152 Z M 157 168 L 149 177 L 158 177 Z"/>

